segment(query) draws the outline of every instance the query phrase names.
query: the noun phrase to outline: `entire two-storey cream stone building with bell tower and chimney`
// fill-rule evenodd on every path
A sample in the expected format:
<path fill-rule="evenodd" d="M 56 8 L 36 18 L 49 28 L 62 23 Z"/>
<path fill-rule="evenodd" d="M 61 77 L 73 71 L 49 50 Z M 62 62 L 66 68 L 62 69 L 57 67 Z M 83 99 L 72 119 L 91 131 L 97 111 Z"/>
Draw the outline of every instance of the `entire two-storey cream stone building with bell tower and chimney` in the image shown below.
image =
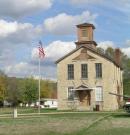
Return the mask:
<path fill-rule="evenodd" d="M 123 94 L 120 50 L 115 59 L 97 49 L 93 24 L 77 25 L 76 48 L 56 61 L 58 109 L 117 110 L 122 99 L 109 92 Z"/>

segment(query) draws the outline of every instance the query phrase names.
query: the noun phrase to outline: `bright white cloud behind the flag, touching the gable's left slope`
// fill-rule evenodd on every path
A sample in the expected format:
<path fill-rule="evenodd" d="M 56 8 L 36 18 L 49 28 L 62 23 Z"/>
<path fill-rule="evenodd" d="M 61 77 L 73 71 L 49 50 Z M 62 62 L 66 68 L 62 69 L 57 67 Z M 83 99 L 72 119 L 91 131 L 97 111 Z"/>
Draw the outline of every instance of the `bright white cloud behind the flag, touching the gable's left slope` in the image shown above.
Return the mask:
<path fill-rule="evenodd" d="M 75 49 L 74 42 L 62 42 L 62 41 L 54 41 L 50 43 L 48 46 L 44 48 L 45 50 L 45 58 L 50 61 L 55 61 L 65 54 L 69 53 L 73 49 Z M 32 59 L 37 60 L 38 58 L 38 49 L 32 49 Z"/>

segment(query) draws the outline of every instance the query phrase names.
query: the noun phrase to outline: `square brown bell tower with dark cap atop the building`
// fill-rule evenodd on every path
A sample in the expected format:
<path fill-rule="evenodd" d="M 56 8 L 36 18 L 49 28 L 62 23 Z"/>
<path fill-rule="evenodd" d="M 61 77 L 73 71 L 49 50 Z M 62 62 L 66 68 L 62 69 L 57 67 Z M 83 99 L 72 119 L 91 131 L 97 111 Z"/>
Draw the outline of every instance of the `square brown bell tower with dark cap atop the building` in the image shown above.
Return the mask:
<path fill-rule="evenodd" d="M 95 26 L 90 23 L 77 25 L 78 41 L 75 42 L 76 47 L 86 46 L 96 49 L 97 43 L 93 40 L 93 31 Z"/>

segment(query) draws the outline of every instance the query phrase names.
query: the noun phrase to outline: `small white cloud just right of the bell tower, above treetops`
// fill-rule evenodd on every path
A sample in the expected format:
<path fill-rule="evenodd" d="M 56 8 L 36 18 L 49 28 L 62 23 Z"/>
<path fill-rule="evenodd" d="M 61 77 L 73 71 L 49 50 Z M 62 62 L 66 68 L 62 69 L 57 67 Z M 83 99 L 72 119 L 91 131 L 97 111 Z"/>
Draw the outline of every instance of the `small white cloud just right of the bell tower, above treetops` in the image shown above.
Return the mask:
<path fill-rule="evenodd" d="M 104 50 L 106 50 L 108 47 L 112 47 L 115 48 L 115 44 L 112 41 L 103 41 L 103 42 L 99 42 L 98 43 L 98 47 L 103 48 Z"/>

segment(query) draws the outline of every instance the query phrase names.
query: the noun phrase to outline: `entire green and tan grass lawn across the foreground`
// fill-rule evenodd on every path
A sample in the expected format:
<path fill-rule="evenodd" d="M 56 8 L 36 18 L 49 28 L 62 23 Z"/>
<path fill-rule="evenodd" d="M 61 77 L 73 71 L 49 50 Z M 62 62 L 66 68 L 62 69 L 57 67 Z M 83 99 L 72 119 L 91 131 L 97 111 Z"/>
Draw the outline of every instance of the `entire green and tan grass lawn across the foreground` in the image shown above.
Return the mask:
<path fill-rule="evenodd" d="M 129 135 L 130 115 L 71 113 L 0 118 L 0 135 Z"/>

